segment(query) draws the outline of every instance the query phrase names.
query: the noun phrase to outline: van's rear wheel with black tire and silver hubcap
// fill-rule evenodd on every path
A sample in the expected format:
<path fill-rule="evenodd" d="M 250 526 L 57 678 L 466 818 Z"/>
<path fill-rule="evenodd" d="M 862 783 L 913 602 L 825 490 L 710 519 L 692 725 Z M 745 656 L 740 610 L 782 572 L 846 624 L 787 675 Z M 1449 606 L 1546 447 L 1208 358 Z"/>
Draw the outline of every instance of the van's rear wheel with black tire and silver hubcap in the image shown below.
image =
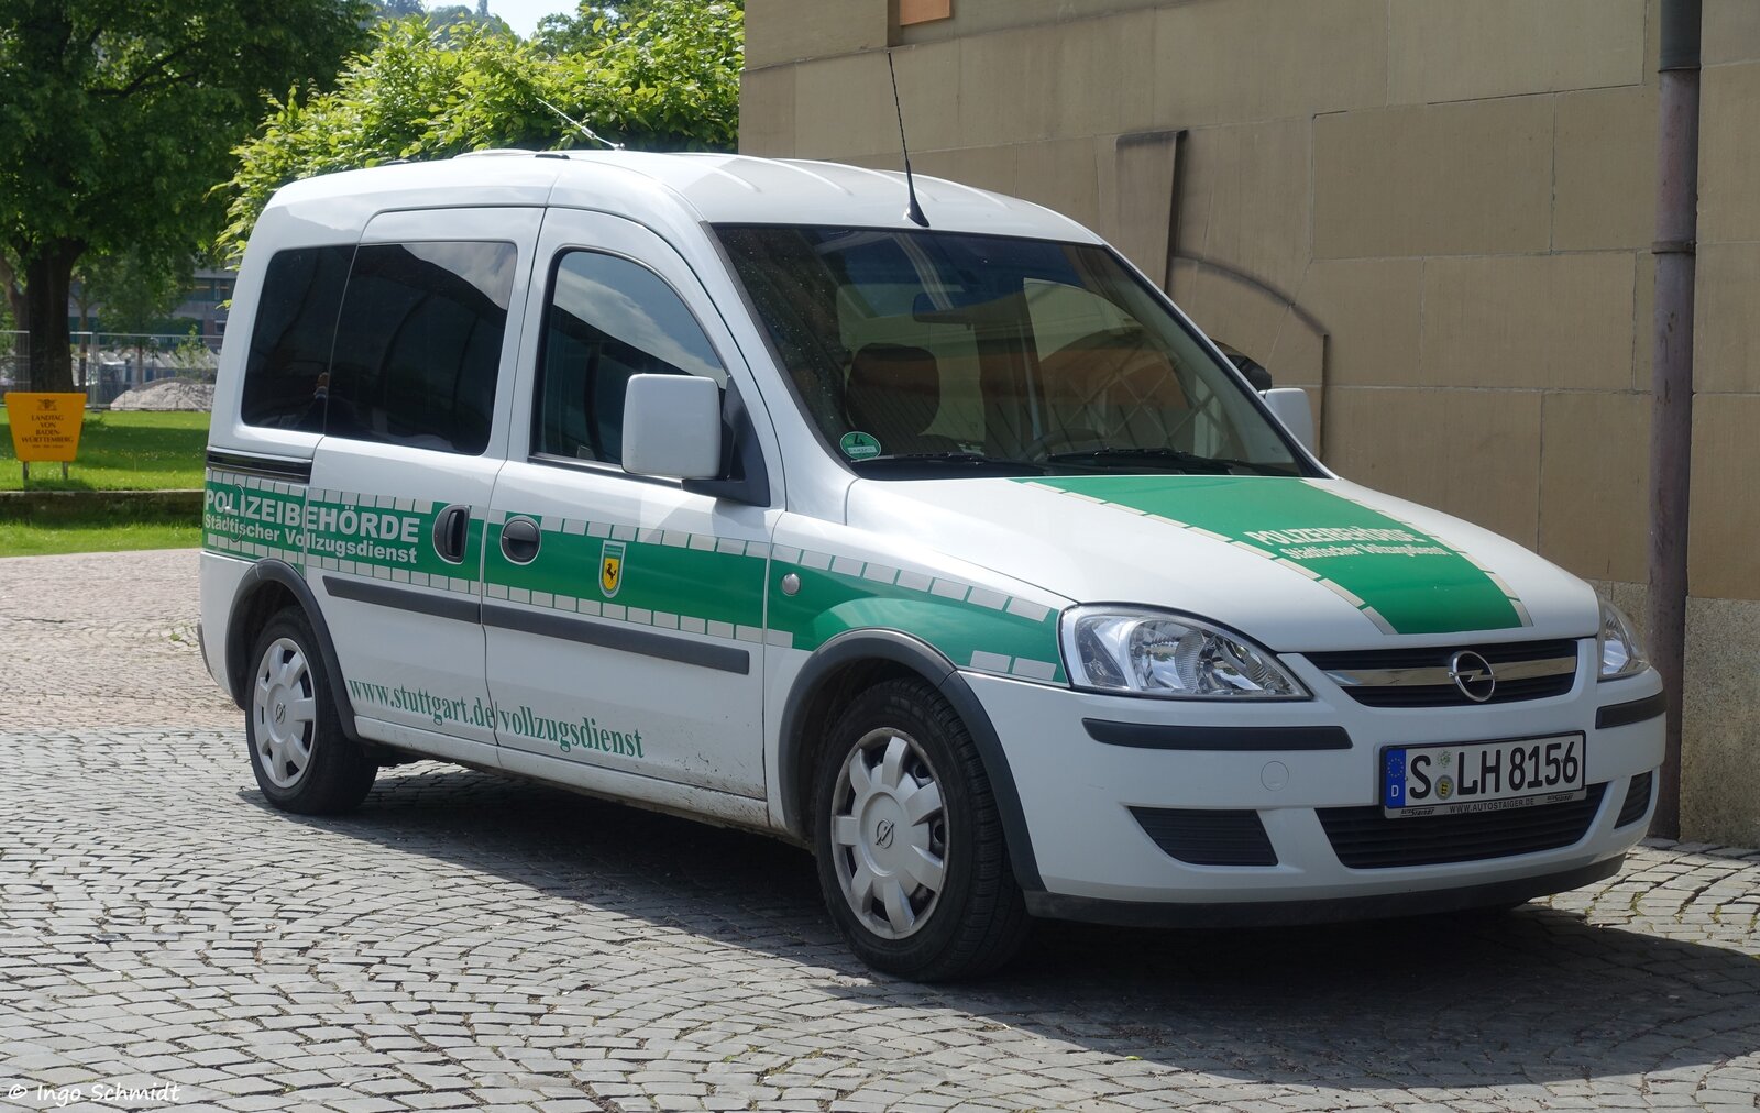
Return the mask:
<path fill-rule="evenodd" d="M 287 608 L 262 627 L 250 667 L 245 747 L 269 803 L 299 815 L 327 815 L 366 800 L 378 766 L 341 729 L 304 611 Z"/>

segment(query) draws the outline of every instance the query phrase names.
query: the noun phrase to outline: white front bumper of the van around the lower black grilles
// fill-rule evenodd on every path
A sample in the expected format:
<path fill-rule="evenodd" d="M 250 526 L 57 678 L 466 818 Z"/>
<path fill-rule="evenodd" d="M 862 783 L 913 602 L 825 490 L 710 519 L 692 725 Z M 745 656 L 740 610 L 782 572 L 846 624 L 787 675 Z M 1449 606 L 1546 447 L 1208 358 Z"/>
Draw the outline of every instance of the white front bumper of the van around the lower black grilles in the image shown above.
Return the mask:
<path fill-rule="evenodd" d="M 1584 660 L 1588 666 L 1588 660 Z M 1647 828 L 1654 791 L 1628 807 L 1661 763 L 1663 720 L 1598 727 L 1602 708 L 1647 710 L 1654 673 L 1598 683 L 1579 669 L 1565 696 L 1464 708 L 1371 708 L 1318 669 L 1294 667 L 1313 701 L 1199 704 L 1075 692 L 966 674 L 1008 757 L 1042 893 L 1040 916 L 1109 923 L 1288 923 L 1390 916 L 1521 902 L 1617 870 Z M 1619 722 L 1619 717 L 1600 717 Z M 1125 724 L 1112 741 L 1084 720 Z M 1121 743 L 1128 727 L 1183 727 L 1181 748 Z M 1385 745 L 1489 741 L 1582 733 L 1586 778 L 1600 798 L 1579 808 L 1580 837 L 1531 852 L 1434 865 L 1352 868 L 1339 859 L 1322 810 L 1378 803 Z M 1107 734 L 1107 731 L 1102 731 Z M 1214 734 L 1218 747 L 1204 748 Z M 1278 748 L 1290 745 L 1292 748 Z M 1654 778 L 1647 778 L 1653 782 Z M 1257 815 L 1274 865 L 1193 865 L 1163 851 L 1133 814 L 1218 810 Z M 1521 817 L 1531 808 L 1496 815 Z M 1396 819 L 1419 824 L 1431 819 Z M 1487 819 L 1487 822 L 1498 822 Z M 1404 828 L 1389 828 L 1399 838 Z M 1556 840 L 1554 840 L 1556 842 Z"/>

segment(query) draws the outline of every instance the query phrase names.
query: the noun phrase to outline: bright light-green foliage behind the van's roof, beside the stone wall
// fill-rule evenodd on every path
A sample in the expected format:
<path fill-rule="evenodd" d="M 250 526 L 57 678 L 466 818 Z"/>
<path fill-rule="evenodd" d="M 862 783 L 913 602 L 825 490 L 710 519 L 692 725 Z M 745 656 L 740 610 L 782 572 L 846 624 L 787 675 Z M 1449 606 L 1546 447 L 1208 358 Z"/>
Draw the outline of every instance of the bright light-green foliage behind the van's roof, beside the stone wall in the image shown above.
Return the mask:
<path fill-rule="evenodd" d="M 567 26 L 549 19 L 553 33 L 530 42 L 495 26 L 378 25 L 333 92 L 296 88 L 271 102 L 238 148 L 222 247 L 243 254 L 269 195 L 297 178 L 486 148 L 591 146 L 563 114 L 632 148 L 736 146 L 739 4 L 641 0 L 621 16 L 588 7 Z"/>

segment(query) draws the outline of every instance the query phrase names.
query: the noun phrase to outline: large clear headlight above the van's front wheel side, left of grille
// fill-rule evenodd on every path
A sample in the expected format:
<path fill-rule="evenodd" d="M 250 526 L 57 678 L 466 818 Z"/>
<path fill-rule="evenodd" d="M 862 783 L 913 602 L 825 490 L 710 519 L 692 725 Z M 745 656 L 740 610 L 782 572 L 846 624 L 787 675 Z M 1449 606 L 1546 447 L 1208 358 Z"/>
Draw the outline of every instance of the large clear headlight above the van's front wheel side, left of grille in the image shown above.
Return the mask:
<path fill-rule="evenodd" d="M 1063 613 L 1063 666 L 1079 689 L 1167 699 L 1309 699 L 1264 650 L 1197 618 L 1130 608 Z"/>

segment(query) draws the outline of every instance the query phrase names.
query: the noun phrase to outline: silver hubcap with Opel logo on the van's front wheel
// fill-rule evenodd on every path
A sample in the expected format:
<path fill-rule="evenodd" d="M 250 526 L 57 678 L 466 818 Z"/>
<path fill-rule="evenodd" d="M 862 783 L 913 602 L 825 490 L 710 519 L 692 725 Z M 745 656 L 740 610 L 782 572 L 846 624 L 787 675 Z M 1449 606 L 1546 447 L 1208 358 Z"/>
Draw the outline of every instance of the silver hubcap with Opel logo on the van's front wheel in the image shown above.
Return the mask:
<path fill-rule="evenodd" d="M 947 875 L 942 789 L 908 734 L 866 734 L 843 763 L 831 800 L 831 844 L 843 898 L 882 939 L 928 923 Z"/>

